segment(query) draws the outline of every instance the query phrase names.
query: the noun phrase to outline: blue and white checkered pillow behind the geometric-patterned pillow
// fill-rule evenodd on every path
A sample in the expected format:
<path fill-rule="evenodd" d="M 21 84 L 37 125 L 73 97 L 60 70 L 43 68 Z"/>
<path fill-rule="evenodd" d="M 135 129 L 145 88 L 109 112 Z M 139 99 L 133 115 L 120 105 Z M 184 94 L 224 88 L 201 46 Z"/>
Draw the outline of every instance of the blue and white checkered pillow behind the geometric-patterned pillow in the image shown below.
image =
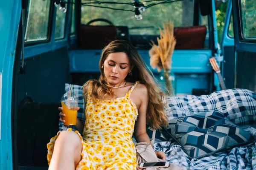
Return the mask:
<path fill-rule="evenodd" d="M 170 120 L 205 111 L 219 111 L 236 125 L 256 121 L 256 93 L 246 89 L 217 91 L 210 95 L 167 97 Z"/>

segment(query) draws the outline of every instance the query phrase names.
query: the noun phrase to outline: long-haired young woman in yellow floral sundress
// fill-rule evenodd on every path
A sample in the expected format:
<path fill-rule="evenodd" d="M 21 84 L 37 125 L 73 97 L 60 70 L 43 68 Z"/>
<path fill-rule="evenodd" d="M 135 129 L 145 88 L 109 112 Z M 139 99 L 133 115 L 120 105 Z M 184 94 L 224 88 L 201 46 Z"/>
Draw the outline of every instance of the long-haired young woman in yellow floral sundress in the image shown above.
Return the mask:
<path fill-rule="evenodd" d="M 130 42 L 109 43 L 99 69 L 99 80 L 83 86 L 86 121 L 78 119 L 76 125 L 83 138 L 71 129 L 58 132 L 47 144 L 49 170 L 136 169 L 132 134 L 150 144 L 146 123 L 155 129 L 168 123 L 163 92 Z M 163 152 L 155 153 L 166 158 Z"/>

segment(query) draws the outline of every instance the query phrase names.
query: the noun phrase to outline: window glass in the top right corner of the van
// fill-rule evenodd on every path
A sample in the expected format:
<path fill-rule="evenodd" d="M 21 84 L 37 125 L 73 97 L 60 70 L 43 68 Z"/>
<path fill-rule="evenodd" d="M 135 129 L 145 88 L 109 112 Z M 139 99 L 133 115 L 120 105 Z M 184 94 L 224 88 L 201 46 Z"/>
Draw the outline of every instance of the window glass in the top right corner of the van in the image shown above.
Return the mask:
<path fill-rule="evenodd" d="M 242 33 L 244 39 L 256 38 L 255 0 L 241 0 Z"/>

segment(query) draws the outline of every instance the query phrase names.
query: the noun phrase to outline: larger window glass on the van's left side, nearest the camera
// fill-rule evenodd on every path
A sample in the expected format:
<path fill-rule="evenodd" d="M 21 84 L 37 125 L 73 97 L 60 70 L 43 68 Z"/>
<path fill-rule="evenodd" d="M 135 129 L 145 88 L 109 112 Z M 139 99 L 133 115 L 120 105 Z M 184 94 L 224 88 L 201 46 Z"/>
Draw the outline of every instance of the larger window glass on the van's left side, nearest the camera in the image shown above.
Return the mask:
<path fill-rule="evenodd" d="M 25 33 L 26 42 L 48 39 L 50 3 L 49 0 L 29 1 Z"/>

